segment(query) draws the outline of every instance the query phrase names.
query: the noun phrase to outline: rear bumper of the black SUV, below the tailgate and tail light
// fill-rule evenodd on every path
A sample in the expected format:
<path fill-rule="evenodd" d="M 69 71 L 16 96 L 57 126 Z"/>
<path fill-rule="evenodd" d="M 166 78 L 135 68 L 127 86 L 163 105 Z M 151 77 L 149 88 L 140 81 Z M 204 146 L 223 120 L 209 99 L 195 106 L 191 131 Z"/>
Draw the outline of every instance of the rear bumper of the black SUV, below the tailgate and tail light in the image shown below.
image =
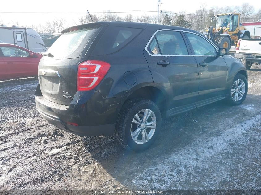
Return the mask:
<path fill-rule="evenodd" d="M 80 98 L 84 98 L 84 95 L 78 96 L 78 99 Z M 113 135 L 121 107 L 121 98 L 104 98 L 98 91 L 83 104 L 71 103 L 70 106 L 57 104 L 41 95 L 39 85 L 36 88 L 35 102 L 38 112 L 49 123 L 80 136 Z M 97 104 L 101 104 L 102 107 Z"/>

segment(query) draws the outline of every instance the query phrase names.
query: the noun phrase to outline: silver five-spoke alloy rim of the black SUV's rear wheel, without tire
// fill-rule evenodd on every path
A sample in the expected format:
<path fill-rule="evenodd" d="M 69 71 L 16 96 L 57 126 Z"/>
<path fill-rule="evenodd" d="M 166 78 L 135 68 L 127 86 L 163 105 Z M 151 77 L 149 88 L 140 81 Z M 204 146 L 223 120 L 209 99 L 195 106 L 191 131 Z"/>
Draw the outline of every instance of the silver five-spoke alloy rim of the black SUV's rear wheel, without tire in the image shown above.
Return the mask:
<path fill-rule="evenodd" d="M 131 137 L 137 144 L 145 144 L 154 135 L 157 120 L 154 112 L 150 109 L 139 111 L 131 123 Z"/>

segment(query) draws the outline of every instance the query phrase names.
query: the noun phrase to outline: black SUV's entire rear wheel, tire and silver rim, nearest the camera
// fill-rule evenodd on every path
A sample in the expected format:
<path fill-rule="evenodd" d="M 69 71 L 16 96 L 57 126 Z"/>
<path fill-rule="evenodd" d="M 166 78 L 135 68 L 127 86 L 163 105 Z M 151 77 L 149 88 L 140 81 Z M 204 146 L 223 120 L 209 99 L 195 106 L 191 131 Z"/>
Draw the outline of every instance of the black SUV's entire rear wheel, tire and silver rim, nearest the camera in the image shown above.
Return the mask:
<path fill-rule="evenodd" d="M 115 137 L 123 148 L 141 152 L 154 143 L 160 128 L 158 106 L 147 99 L 133 99 L 128 100 L 119 113 Z"/>

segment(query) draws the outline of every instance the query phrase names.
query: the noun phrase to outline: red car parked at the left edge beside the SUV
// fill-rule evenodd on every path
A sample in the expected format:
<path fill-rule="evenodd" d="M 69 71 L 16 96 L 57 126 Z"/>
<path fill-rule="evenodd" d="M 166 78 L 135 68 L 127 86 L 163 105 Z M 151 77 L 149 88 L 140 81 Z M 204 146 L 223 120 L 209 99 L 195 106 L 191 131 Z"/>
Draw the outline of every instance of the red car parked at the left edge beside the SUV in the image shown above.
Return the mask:
<path fill-rule="evenodd" d="M 0 80 L 37 76 L 42 57 L 23 47 L 0 43 Z"/>

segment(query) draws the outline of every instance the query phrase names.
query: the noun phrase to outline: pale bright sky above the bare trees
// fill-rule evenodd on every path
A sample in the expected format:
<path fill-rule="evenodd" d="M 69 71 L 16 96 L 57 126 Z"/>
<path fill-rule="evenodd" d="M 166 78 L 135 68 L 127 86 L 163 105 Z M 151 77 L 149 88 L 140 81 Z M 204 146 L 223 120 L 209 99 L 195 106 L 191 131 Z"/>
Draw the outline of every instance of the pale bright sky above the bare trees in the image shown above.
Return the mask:
<path fill-rule="evenodd" d="M 204 0 L 161 0 L 160 10 L 171 12 L 192 13 L 200 8 L 200 3 L 206 3 L 207 8 L 212 6 L 228 6 L 233 5 L 232 1 L 204 1 Z M 218 3 L 220 2 L 220 3 Z M 255 10 L 261 8 L 260 0 L 237 0 L 236 4 L 241 5 L 249 2 L 255 7 Z M 103 12 L 103 11 L 133 11 L 133 10 L 157 10 L 157 0 L 21 0 L 3 1 L 1 0 L 0 12 Z M 128 13 L 119 14 L 124 16 Z M 142 15 L 144 13 L 132 13 L 133 15 Z M 156 12 L 148 12 L 148 15 L 156 15 Z M 69 25 L 78 22 L 78 18 L 84 14 L 23 14 L 23 13 L 0 13 L 0 22 L 11 26 L 16 24 L 30 26 L 32 24 L 44 24 L 46 21 L 52 21 L 56 18 L 65 18 Z"/>

